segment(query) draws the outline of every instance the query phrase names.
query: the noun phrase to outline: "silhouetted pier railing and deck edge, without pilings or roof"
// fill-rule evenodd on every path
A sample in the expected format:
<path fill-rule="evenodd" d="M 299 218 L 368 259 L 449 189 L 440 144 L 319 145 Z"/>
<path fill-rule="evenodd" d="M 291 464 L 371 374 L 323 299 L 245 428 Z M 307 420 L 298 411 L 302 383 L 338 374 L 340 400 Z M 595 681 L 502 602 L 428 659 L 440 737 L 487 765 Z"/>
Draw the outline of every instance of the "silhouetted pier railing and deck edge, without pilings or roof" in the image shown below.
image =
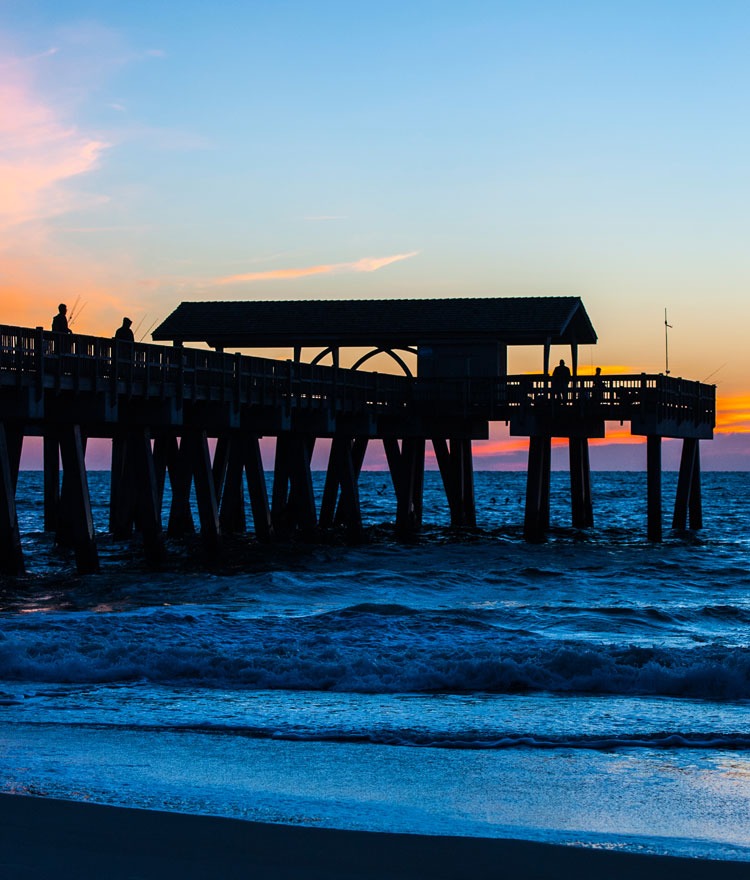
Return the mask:
<path fill-rule="evenodd" d="M 611 421 L 683 422 L 712 427 L 715 387 L 662 374 L 577 376 L 564 390 L 549 376 L 422 379 L 209 349 L 118 342 L 0 326 L 0 387 L 172 397 L 236 407 L 335 413 L 440 413 L 508 420 L 552 410 Z"/>

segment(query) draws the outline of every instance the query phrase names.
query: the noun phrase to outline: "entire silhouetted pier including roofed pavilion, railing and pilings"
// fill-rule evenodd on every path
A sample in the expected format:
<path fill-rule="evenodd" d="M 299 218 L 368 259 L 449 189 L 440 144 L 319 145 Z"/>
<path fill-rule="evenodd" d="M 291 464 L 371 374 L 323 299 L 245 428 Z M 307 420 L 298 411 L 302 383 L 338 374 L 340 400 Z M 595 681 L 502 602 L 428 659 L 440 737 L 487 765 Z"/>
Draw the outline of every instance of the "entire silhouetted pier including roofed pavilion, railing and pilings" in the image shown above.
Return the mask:
<path fill-rule="evenodd" d="M 472 528 L 472 441 L 486 439 L 493 421 L 529 438 L 526 540 L 543 540 L 549 528 L 553 438 L 569 445 L 572 525 L 593 526 L 589 440 L 604 437 L 607 422 L 628 423 L 646 438 L 648 538 L 662 539 L 665 437 L 682 440 L 672 526 L 702 526 L 699 441 L 713 436 L 714 386 L 662 374 L 578 375 L 578 346 L 596 341 L 578 298 L 183 303 L 153 336 L 172 344 L 0 326 L 3 572 L 24 571 L 15 494 L 30 436 L 43 438 L 44 528 L 74 549 L 80 572 L 99 565 L 85 467 L 92 438 L 112 441 L 108 531 L 122 539 L 140 533 L 155 566 L 165 536 L 195 530 L 193 493 L 209 554 L 218 554 L 222 534 L 250 529 L 271 541 L 337 527 L 357 540 L 358 479 L 373 442 L 387 457 L 397 533 L 422 524 L 428 442 L 451 524 Z M 539 346 L 540 373 L 508 375 L 511 345 Z M 568 347 L 572 368 L 563 392 L 549 370 L 559 345 Z M 227 351 L 273 347 L 288 347 L 293 357 Z M 346 347 L 367 352 L 344 368 Z M 314 352 L 309 361 L 305 349 Z M 368 371 L 376 353 L 403 375 Z M 270 491 L 263 437 L 276 441 Z M 322 438 L 331 443 L 318 500 L 310 461 Z"/>

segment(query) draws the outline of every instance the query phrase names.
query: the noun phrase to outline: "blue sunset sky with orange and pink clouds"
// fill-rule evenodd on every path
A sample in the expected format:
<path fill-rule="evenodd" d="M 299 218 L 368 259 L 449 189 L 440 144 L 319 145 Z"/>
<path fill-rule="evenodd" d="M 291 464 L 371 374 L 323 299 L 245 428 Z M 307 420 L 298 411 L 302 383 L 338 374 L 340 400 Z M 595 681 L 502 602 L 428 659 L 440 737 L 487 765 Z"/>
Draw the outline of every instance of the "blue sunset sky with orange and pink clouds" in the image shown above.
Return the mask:
<path fill-rule="evenodd" d="M 656 373 L 666 309 L 705 466 L 750 469 L 749 38 L 723 0 L 0 0 L 0 322 L 576 295 L 582 372 Z"/>

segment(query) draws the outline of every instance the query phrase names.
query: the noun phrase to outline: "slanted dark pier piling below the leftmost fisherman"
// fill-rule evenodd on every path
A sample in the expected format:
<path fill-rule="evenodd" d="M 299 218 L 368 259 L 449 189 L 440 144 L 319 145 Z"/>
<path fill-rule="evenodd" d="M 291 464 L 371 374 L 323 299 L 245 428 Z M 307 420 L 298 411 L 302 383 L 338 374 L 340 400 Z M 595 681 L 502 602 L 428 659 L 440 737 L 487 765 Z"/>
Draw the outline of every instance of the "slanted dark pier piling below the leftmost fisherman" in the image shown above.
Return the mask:
<path fill-rule="evenodd" d="M 91 496 L 84 449 L 85 444 L 78 425 L 71 425 L 60 431 L 63 517 L 68 520 L 79 573 L 92 574 L 99 571 L 99 556 L 94 536 L 94 520 L 91 515 Z"/>

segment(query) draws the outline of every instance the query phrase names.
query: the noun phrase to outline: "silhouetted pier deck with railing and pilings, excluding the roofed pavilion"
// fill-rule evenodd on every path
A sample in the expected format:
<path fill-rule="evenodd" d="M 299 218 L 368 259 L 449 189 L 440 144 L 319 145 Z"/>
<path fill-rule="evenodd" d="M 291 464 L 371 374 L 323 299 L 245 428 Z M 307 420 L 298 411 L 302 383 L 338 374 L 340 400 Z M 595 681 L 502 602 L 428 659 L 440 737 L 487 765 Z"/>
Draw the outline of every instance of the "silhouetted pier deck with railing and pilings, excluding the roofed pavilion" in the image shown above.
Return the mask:
<path fill-rule="evenodd" d="M 357 480 L 371 441 L 385 448 L 399 532 L 421 525 L 428 440 L 451 522 L 472 527 L 471 442 L 488 437 L 492 421 L 530 438 L 528 540 L 543 539 L 549 525 L 553 437 L 570 446 L 572 523 L 593 524 L 588 440 L 604 437 L 606 422 L 627 422 L 632 433 L 647 437 L 649 537 L 661 539 L 663 437 L 683 440 L 673 526 L 701 526 L 698 446 L 713 436 L 714 386 L 645 373 L 574 375 L 564 395 L 553 395 L 546 373 L 399 376 L 0 326 L 0 567 L 23 571 L 15 485 L 24 437 L 44 438 L 45 528 L 75 548 L 81 571 L 94 571 L 84 463 L 89 438 L 113 441 L 109 530 L 124 537 L 137 529 L 158 564 L 167 479 L 167 533 L 192 530 L 194 492 L 201 536 L 212 552 L 222 532 L 245 530 L 243 480 L 259 539 L 334 524 L 356 536 Z M 260 458 L 264 436 L 276 438 L 270 497 Z M 319 505 L 310 478 L 318 438 L 333 441 Z"/>

